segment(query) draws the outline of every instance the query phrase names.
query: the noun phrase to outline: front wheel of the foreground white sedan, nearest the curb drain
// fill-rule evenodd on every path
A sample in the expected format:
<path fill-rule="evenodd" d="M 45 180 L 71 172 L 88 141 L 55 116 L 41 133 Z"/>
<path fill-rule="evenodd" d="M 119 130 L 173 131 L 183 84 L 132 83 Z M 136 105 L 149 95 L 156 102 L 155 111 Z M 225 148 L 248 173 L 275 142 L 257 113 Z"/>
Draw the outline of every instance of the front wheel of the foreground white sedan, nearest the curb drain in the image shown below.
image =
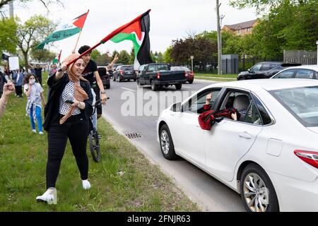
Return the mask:
<path fill-rule="evenodd" d="M 167 160 L 175 160 L 177 155 L 175 153 L 175 146 L 173 145 L 170 130 L 167 124 L 164 124 L 160 128 L 160 148 L 163 153 L 163 157 Z"/>

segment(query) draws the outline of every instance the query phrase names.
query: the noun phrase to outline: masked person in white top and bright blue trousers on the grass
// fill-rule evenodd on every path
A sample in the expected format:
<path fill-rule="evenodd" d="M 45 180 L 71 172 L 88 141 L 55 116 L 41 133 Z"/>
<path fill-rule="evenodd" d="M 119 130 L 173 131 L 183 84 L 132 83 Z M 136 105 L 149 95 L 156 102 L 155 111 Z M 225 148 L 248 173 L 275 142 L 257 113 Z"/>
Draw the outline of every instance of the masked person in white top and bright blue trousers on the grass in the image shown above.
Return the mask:
<path fill-rule="evenodd" d="M 31 128 L 33 133 L 37 133 L 35 129 L 35 121 L 37 121 L 37 129 L 40 135 L 43 135 L 42 129 L 42 105 L 45 106 L 45 96 L 43 88 L 37 82 L 37 78 L 32 73 L 29 73 L 24 78 L 24 93 L 28 97 L 28 102 L 25 107 L 26 115 L 30 116 Z"/>

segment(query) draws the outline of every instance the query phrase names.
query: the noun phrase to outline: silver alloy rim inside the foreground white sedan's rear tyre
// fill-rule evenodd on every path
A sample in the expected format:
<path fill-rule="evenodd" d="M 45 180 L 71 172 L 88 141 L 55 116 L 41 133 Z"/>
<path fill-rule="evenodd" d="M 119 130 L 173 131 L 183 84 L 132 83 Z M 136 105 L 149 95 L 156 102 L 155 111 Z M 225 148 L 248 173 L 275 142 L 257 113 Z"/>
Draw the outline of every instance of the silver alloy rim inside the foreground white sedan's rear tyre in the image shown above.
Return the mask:
<path fill-rule="evenodd" d="M 259 175 L 250 173 L 245 177 L 243 192 L 249 210 L 266 212 L 269 206 L 269 189 Z"/>

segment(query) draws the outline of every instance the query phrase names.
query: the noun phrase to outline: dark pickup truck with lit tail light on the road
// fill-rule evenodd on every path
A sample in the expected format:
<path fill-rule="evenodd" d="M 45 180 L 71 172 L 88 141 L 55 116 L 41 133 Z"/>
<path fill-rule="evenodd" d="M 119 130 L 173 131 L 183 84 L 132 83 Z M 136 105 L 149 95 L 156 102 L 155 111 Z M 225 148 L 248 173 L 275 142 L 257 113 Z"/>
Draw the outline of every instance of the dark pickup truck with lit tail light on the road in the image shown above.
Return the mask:
<path fill-rule="evenodd" d="M 151 85 L 153 91 L 169 85 L 175 85 L 175 88 L 180 90 L 182 84 L 187 82 L 185 74 L 185 71 L 170 71 L 170 65 L 165 63 L 143 64 L 139 67 L 137 84 Z"/>

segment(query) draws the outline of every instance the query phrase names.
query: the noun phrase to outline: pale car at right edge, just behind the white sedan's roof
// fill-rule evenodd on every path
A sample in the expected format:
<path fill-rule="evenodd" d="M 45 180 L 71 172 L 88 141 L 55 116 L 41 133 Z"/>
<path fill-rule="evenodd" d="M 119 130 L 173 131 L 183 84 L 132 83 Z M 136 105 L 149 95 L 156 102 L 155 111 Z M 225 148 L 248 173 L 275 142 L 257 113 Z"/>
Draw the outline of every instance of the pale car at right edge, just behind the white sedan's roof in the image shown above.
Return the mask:
<path fill-rule="evenodd" d="M 317 65 L 294 66 L 276 73 L 271 78 L 310 78 L 318 79 Z"/>

